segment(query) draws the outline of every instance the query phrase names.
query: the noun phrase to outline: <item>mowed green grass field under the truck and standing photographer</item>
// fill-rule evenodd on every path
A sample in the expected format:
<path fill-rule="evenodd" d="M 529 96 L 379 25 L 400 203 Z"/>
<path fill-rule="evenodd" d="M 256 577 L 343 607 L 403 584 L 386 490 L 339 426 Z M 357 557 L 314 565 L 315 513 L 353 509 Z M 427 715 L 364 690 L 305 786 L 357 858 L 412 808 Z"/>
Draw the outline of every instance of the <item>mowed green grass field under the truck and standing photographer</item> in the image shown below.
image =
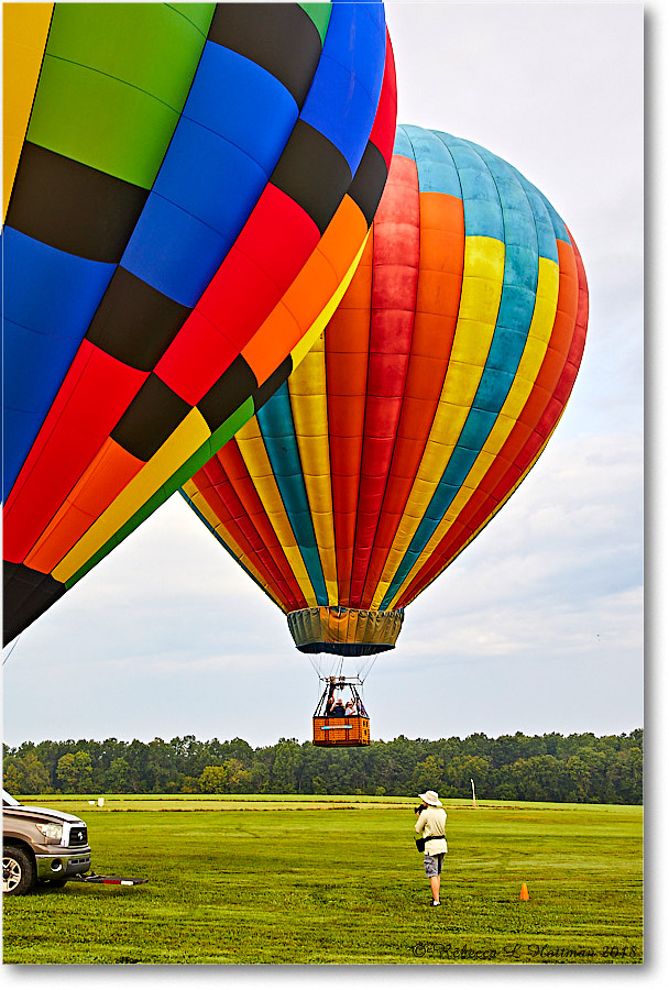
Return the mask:
<path fill-rule="evenodd" d="M 643 961 L 640 807 L 449 801 L 431 909 L 410 799 L 31 802 L 87 821 L 97 872 L 149 883 L 4 898 L 4 963 Z"/>

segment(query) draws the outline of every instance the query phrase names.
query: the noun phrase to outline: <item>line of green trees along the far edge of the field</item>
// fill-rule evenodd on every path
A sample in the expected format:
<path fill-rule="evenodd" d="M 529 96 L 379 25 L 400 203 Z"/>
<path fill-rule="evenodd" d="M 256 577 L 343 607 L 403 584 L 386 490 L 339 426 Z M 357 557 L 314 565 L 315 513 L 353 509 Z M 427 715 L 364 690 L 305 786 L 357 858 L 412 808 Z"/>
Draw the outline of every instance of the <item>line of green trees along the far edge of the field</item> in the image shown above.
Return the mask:
<path fill-rule="evenodd" d="M 643 729 L 617 736 L 377 741 L 328 749 L 279 739 L 253 748 L 243 739 L 195 736 L 131 743 L 68 739 L 4 747 L 4 788 L 13 794 L 373 794 L 643 803 Z"/>

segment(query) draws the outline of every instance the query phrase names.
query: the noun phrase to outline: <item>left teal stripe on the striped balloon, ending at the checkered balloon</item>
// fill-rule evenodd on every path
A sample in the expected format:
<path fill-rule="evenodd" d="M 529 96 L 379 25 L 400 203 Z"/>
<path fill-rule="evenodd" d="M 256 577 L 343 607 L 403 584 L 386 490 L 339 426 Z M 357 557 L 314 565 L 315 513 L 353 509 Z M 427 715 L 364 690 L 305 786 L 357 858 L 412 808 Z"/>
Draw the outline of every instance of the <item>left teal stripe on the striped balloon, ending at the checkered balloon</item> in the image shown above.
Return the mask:
<path fill-rule="evenodd" d="M 299 461 L 290 398 L 286 384 L 257 411 L 257 424 L 290 528 L 316 593 L 318 605 L 328 604 L 316 534 Z"/>

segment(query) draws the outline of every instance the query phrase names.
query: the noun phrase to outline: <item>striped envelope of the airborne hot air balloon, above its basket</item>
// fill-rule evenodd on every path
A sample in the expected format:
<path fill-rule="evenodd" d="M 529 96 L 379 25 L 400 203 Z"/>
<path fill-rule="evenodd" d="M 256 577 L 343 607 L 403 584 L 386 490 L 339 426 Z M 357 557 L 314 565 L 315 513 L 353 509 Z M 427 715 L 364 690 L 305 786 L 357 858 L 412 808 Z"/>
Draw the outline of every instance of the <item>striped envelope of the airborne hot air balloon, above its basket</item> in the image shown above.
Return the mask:
<path fill-rule="evenodd" d="M 535 464 L 586 322 L 541 193 L 483 147 L 399 127 L 325 333 L 184 494 L 299 650 L 366 663 Z"/>

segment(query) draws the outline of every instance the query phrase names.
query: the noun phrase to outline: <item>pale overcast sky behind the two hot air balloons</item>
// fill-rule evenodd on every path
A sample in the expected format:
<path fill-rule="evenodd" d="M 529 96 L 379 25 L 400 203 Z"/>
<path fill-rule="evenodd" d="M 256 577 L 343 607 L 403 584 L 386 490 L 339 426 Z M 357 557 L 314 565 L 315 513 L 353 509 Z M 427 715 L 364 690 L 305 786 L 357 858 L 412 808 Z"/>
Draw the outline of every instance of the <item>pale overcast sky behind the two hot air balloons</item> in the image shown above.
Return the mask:
<path fill-rule="evenodd" d="M 541 189 L 591 308 L 545 453 L 372 669 L 373 738 L 643 725 L 643 18 L 635 3 L 387 4 L 398 123 L 472 140 Z M 283 614 L 178 495 L 3 671 L 9 745 L 303 741 L 319 693 Z"/>

